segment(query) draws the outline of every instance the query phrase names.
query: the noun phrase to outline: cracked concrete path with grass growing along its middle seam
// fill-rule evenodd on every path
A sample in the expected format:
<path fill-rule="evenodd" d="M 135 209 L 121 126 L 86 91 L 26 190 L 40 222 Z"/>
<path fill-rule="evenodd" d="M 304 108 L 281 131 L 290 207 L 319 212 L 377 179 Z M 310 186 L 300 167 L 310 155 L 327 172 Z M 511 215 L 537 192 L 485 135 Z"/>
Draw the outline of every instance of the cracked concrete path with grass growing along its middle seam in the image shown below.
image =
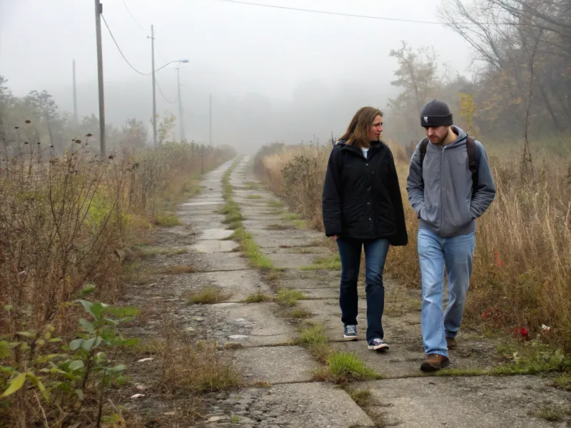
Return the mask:
<path fill-rule="evenodd" d="M 238 245 L 228 240 L 232 232 L 217 213 L 223 206 L 221 178 L 230 165 L 206 175 L 202 193 L 178 208 L 183 226 L 168 232 L 176 238 L 171 248 L 186 248 L 188 253 L 159 259 L 161 265 L 192 265 L 193 272 L 165 274 L 142 288 L 138 296 L 153 298 L 156 287 L 171 287 L 173 296 L 161 298 L 158 304 L 165 305 L 184 330 L 197 339 L 239 348 L 225 352 L 232 352 L 249 386 L 207 394 L 208 414 L 196 427 L 565 427 L 568 418 L 547 422 L 531 415 L 545 407 L 565 411 L 571 402 L 570 392 L 545 386 L 541 377 L 419 377 L 423 360 L 420 296 L 390 279 L 385 280 L 383 315 L 390 350 L 375 353 L 367 349 L 363 298 L 358 317 L 361 340 L 343 342 L 339 270 L 300 269 L 332 255 L 323 246 L 323 234 L 295 228 L 276 195 L 264 190 L 248 171 L 245 158 L 231 175 L 232 197 L 245 218 L 243 227 L 261 252 L 281 268 L 281 287 L 304 293 L 307 300 L 300 300 L 295 308 L 305 310 L 309 321 L 323 323 L 330 347 L 357 355 L 383 376 L 352 385 L 370 393 L 363 408 L 345 389 L 313 382 L 314 372 L 322 366 L 308 350 L 295 345 L 298 325 L 283 316 L 284 308 L 276 302 L 244 302 L 258 292 L 276 297 L 276 287 L 237 252 Z M 209 285 L 223 289 L 223 302 L 181 304 L 189 292 Z M 365 296 L 363 285 L 359 285 L 359 294 Z M 458 340 L 458 349 L 451 352 L 454 367 L 497 365 L 491 357 L 495 343 L 468 332 L 460 332 Z"/>

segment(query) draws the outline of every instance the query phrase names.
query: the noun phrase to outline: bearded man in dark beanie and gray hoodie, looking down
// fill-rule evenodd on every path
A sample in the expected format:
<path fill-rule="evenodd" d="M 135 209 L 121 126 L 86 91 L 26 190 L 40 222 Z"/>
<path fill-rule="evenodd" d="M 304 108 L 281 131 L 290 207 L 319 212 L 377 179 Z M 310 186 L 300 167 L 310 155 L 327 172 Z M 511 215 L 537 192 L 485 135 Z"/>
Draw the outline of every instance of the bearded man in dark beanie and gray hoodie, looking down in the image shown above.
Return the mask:
<path fill-rule="evenodd" d="M 410 160 L 408 200 L 418 216 L 418 256 L 423 283 L 421 324 L 426 359 L 423 372 L 450 364 L 448 349 L 462 321 L 475 250 L 475 219 L 495 198 L 484 147 L 453 125 L 442 101 L 420 112 L 426 130 Z M 448 307 L 443 314 L 444 266 Z"/>

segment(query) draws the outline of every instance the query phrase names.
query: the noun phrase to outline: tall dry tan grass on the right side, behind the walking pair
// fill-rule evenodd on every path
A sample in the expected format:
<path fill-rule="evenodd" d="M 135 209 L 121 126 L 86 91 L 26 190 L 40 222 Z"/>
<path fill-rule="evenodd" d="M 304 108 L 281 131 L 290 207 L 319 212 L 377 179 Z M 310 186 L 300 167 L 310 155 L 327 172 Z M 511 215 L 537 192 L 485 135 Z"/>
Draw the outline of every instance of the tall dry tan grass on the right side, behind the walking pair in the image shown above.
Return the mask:
<path fill-rule="evenodd" d="M 390 248 L 387 270 L 408 287 L 419 287 L 418 220 L 405 184 L 409 158 L 401 146 L 389 146 L 403 191 L 409 244 Z M 323 230 L 320 200 L 329 153 L 330 147 L 270 146 L 255 162 L 258 176 L 318 230 Z M 565 166 L 569 160 L 550 159 L 541 168 L 536 165 L 531 177 L 520 173 L 519 159 L 510 163 L 490 156 L 497 198 L 477 221 L 465 320 L 505 330 L 525 327 L 532 335 L 547 325 L 551 335 L 545 339 L 571 350 L 571 168 Z"/>

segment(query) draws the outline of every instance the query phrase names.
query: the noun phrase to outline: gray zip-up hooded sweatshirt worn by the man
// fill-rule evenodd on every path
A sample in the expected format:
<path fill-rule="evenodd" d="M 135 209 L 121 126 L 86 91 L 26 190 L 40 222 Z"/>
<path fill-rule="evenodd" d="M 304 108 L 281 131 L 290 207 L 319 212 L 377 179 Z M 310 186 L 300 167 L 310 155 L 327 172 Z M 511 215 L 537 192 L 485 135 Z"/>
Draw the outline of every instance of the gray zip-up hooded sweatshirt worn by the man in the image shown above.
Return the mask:
<path fill-rule="evenodd" d="M 478 182 L 473 189 L 467 135 L 456 126 L 453 129 L 458 138 L 448 146 L 428 143 L 422 167 L 418 144 L 410 159 L 406 187 L 410 205 L 420 219 L 418 228 L 442 238 L 472 233 L 475 219 L 495 199 L 495 184 L 484 146 L 475 142 Z"/>

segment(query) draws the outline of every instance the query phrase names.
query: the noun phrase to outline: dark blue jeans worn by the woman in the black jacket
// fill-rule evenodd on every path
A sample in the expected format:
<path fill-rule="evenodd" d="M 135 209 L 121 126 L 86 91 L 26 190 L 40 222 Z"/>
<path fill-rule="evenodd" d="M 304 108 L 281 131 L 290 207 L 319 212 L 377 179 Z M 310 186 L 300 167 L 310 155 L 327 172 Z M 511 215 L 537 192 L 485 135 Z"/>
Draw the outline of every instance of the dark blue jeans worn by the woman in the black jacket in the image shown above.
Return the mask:
<path fill-rule="evenodd" d="M 385 287 L 383 270 L 387 258 L 389 240 L 354 240 L 338 238 L 337 246 L 341 258 L 341 284 L 339 304 L 341 321 L 344 325 L 357 325 L 358 295 L 357 281 L 361 261 L 361 248 L 365 247 L 365 294 L 367 295 L 367 341 L 383 339 L 383 308 Z"/>

